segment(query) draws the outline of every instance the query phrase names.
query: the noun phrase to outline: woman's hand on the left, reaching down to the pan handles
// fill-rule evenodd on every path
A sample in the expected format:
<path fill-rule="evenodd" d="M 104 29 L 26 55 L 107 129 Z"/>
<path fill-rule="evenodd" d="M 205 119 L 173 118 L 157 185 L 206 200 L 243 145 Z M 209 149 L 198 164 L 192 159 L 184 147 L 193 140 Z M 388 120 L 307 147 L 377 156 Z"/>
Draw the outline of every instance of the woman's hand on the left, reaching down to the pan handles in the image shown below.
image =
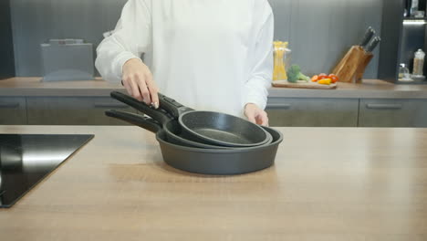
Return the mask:
<path fill-rule="evenodd" d="M 122 83 L 128 93 L 135 99 L 159 108 L 159 92 L 150 68 L 139 58 L 131 58 L 123 65 Z"/>

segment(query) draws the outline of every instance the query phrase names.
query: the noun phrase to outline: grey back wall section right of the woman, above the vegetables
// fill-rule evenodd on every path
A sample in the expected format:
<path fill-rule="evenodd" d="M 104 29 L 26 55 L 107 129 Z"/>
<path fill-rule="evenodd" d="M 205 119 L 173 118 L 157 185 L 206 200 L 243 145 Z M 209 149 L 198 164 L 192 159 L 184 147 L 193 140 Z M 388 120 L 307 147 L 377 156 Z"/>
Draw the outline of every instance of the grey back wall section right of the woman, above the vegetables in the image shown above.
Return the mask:
<path fill-rule="evenodd" d="M 285 39 L 292 61 L 308 74 L 328 72 L 368 26 L 380 35 L 382 0 L 270 0 L 276 9 L 276 39 Z M 379 47 L 366 70 L 377 78 Z"/>

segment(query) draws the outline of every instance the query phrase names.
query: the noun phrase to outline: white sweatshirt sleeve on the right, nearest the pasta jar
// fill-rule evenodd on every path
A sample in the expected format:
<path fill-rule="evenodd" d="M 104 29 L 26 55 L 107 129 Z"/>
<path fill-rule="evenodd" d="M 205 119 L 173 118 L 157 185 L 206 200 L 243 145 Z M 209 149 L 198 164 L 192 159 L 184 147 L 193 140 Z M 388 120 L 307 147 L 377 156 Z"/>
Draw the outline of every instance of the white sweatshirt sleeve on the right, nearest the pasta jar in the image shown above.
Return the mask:
<path fill-rule="evenodd" d="M 262 26 L 258 28 L 250 66 L 250 76 L 245 83 L 245 105 L 254 103 L 266 109 L 268 87 L 273 77 L 274 16 L 271 6 L 266 3 L 262 11 Z"/>

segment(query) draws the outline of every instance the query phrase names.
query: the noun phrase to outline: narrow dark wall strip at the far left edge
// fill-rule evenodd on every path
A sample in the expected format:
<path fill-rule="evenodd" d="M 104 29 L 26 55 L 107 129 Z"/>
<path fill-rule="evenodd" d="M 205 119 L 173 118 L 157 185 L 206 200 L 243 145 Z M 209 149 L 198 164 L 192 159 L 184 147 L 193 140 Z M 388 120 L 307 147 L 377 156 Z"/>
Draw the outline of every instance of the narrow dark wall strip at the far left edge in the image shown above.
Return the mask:
<path fill-rule="evenodd" d="M 9 0 L 0 1 L 0 79 L 15 76 Z"/>

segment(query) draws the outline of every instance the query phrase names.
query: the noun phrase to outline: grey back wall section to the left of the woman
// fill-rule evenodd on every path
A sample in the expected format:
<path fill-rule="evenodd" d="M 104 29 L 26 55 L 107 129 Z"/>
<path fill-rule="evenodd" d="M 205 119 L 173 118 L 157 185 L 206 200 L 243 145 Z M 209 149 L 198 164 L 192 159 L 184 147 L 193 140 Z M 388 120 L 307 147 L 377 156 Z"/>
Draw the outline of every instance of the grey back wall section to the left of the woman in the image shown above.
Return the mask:
<path fill-rule="evenodd" d="M 126 0 L 11 0 L 17 76 L 41 76 L 40 44 L 84 38 L 97 46 Z"/>

